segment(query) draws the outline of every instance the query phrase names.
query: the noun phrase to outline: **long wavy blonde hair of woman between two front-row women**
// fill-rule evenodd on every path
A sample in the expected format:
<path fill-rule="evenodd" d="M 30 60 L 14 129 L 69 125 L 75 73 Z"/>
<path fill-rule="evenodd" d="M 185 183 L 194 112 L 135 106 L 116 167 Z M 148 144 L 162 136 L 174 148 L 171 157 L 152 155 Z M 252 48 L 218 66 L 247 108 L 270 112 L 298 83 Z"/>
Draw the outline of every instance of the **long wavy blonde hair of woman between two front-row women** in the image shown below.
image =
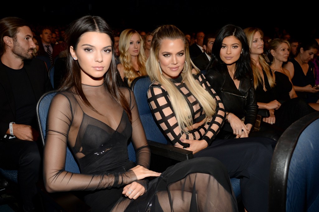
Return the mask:
<path fill-rule="evenodd" d="M 144 76 L 147 74 L 145 69 L 146 56 L 145 56 L 145 52 L 143 48 L 144 41 L 142 37 L 134 29 L 123 30 L 119 40 L 119 51 L 120 51 L 119 58 L 120 58 L 120 62 L 122 63 L 124 67 L 124 76 L 127 78 L 129 86 L 131 82 L 133 81 L 133 79 L 139 76 L 136 70 L 134 69 L 133 63 L 131 61 L 131 55 L 128 52 L 128 49 L 130 48 L 130 39 L 133 36 L 133 34 L 138 34 L 138 36 L 140 37 L 140 42 L 141 42 L 140 52 L 137 56 L 137 64 L 138 64 L 140 74 L 141 76 Z"/>

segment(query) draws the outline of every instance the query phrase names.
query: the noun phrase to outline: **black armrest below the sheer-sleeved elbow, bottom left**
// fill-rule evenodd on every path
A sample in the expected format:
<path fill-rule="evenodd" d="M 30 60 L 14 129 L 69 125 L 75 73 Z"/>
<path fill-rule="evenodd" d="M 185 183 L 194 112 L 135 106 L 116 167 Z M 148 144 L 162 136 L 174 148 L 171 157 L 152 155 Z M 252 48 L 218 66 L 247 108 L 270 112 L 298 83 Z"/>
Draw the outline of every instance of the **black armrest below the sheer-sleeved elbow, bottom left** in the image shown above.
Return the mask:
<path fill-rule="evenodd" d="M 90 212 L 91 208 L 71 192 L 48 193 L 43 181 L 37 182 L 37 189 L 46 209 L 54 208 L 61 212 Z"/>

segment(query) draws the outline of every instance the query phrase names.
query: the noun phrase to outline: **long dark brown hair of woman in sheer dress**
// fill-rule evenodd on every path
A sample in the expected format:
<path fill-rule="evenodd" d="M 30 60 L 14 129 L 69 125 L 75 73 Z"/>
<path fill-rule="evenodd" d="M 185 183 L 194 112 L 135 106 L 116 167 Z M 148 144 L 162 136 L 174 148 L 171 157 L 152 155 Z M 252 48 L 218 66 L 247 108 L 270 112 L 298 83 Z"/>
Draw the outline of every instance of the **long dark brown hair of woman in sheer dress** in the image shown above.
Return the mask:
<path fill-rule="evenodd" d="M 66 42 L 68 50 L 66 58 L 66 75 L 63 79 L 62 85 L 59 88 L 59 91 L 66 91 L 73 88 L 74 91 L 80 96 L 84 104 L 96 111 L 85 97 L 81 85 L 82 80 L 80 66 L 78 61 L 73 60 L 69 50 L 70 46 L 72 46 L 74 50 L 77 49 L 80 37 L 86 32 L 99 32 L 108 34 L 112 40 L 112 49 L 114 47 L 113 31 L 103 18 L 99 16 L 88 15 L 73 21 L 65 32 L 67 36 Z M 112 50 L 112 60 L 108 71 L 104 75 L 104 84 L 115 100 L 123 107 L 130 121 L 132 121 L 129 103 L 126 101 L 124 94 L 119 88 L 120 84 L 118 82 L 120 82 L 122 79 L 119 79 L 120 75 L 117 74 L 118 70 L 116 68 L 114 54 L 115 53 Z M 96 112 L 98 113 L 98 111 Z"/>

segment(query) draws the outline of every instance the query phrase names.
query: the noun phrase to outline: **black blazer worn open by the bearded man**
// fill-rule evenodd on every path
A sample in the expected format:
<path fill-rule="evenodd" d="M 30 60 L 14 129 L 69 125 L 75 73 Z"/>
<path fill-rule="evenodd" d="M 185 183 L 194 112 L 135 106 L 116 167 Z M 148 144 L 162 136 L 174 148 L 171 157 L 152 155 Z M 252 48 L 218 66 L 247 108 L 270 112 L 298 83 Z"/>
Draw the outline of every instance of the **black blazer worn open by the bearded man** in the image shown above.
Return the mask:
<path fill-rule="evenodd" d="M 37 58 L 24 62 L 26 74 L 30 79 L 36 101 L 42 94 L 52 90 L 45 63 Z M 0 137 L 3 137 L 11 121 L 16 120 L 16 106 L 11 84 L 0 60 Z M 35 114 L 34 114 L 35 115 Z M 1 139 L 1 138 L 0 138 Z"/>

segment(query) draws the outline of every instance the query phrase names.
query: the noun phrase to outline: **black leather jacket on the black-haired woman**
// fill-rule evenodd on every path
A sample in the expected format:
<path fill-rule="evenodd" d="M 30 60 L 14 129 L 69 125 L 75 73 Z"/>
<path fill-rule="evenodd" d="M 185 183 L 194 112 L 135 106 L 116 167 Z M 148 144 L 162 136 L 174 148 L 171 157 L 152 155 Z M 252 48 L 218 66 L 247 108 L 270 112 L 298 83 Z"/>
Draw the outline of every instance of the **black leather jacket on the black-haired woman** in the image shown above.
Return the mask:
<path fill-rule="evenodd" d="M 258 106 L 251 77 L 246 75 L 241 79 L 239 89 L 228 72 L 211 68 L 205 77 L 222 100 L 226 112 L 234 113 L 240 119 L 245 117 L 245 124 L 254 126 Z"/>

